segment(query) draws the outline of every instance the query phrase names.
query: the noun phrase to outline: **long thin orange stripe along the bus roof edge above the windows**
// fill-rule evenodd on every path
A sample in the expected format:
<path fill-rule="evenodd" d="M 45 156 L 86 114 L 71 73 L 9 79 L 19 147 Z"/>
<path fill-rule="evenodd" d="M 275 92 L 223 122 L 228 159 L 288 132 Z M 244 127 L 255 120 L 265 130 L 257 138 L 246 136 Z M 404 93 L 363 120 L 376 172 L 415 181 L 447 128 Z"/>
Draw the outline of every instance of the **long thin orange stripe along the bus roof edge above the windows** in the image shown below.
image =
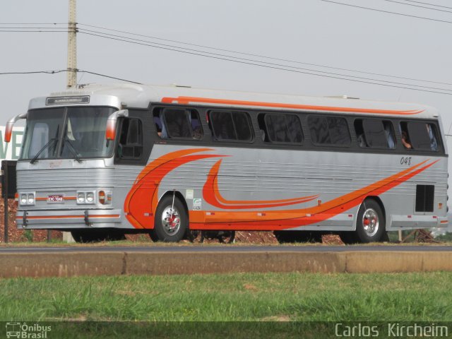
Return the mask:
<path fill-rule="evenodd" d="M 227 100 L 227 99 L 213 99 L 208 97 L 163 97 L 162 102 L 173 103 L 177 102 L 181 105 L 187 105 L 190 102 L 203 102 L 206 104 L 220 104 L 220 105 L 239 105 L 239 106 L 255 106 L 255 107 L 273 107 L 285 109 L 309 109 L 314 111 L 328 111 L 328 112 L 352 112 L 352 113 L 367 113 L 367 114 L 394 114 L 394 115 L 414 115 L 424 112 L 423 109 L 412 110 L 393 110 L 393 109 L 370 109 L 370 108 L 354 108 L 354 107 L 329 107 L 329 106 L 314 106 L 314 105 L 297 105 L 297 104 L 283 104 L 278 102 L 258 102 L 258 101 L 244 101 L 244 100 Z"/>

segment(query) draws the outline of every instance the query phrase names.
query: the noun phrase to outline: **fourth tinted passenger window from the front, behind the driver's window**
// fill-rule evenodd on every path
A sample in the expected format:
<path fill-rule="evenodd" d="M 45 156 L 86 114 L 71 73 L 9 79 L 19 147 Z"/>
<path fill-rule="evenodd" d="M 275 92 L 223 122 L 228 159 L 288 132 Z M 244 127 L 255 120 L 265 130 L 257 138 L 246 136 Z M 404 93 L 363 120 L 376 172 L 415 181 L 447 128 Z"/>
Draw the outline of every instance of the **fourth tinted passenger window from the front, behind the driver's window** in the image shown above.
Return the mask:
<path fill-rule="evenodd" d="M 340 117 L 308 117 L 309 131 L 313 143 L 323 145 L 350 145 L 347 120 Z"/>

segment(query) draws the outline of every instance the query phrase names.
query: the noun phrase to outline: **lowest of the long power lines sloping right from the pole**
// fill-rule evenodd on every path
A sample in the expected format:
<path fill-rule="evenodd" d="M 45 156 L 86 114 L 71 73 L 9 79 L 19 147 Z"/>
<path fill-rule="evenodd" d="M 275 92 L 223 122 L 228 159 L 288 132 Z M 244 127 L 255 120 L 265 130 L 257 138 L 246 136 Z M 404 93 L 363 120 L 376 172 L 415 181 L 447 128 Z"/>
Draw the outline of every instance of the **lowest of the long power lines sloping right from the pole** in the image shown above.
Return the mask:
<path fill-rule="evenodd" d="M 374 80 L 374 79 L 370 79 L 371 81 L 363 81 L 363 80 L 356 80 L 356 79 L 350 79 L 350 78 L 344 78 L 344 77 L 352 77 L 352 76 L 344 76 L 344 75 L 339 75 L 339 76 L 328 76 L 325 74 L 319 74 L 319 73 L 312 73 L 312 72 L 320 72 L 320 71 L 298 71 L 296 69 L 293 69 L 294 67 L 291 66 L 285 66 L 285 65 L 278 65 L 278 64 L 273 64 L 275 66 L 269 66 L 268 64 L 270 63 L 266 63 L 263 61 L 255 61 L 255 60 L 251 60 L 251 61 L 243 61 L 243 60 L 237 60 L 237 59 L 230 59 L 230 58 L 234 58 L 234 57 L 230 57 L 230 56 L 215 56 L 215 55 L 207 55 L 207 54 L 203 54 L 202 52 L 189 52 L 188 50 L 181 50 L 181 47 L 163 47 L 163 46 L 159 46 L 156 45 L 155 43 L 151 43 L 151 42 L 137 42 L 137 41 L 131 41 L 131 40 L 125 40 L 125 39 L 120 39 L 118 37 L 108 37 L 105 35 L 98 35 L 95 33 L 90 33 L 90 32 L 85 32 L 85 31 L 81 31 L 81 33 L 86 34 L 86 35 L 93 35 L 96 37 L 103 37 L 105 39 L 109 39 L 109 40 L 117 40 L 117 41 L 121 41 L 121 42 L 129 42 L 131 44 L 139 44 L 139 45 L 143 45 L 143 46 L 148 46 L 148 47 L 155 47 L 157 49 L 165 49 L 165 50 L 170 50 L 173 52 L 180 52 L 180 53 L 184 53 L 184 54 L 191 54 L 191 55 L 198 55 L 201 57 L 208 57 L 208 58 L 212 58 L 212 59 L 218 59 L 218 60 L 225 60 L 225 61 L 232 61 L 232 62 L 236 62 L 239 64 L 248 64 L 248 65 L 253 65 L 253 66 L 260 66 L 260 67 L 264 67 L 264 68 L 268 68 L 268 69 L 278 69 L 278 70 L 282 70 L 282 71 L 290 71 L 293 73 L 303 73 L 303 74 L 309 74 L 311 76 L 321 76 L 321 77 L 325 77 L 325 78 L 335 78 L 335 79 L 339 79 L 339 80 L 345 80 L 345 81 L 353 81 L 353 82 L 357 82 L 357 83 L 369 83 L 372 85 L 381 85 L 381 86 L 386 86 L 386 87 L 393 87 L 393 88 L 403 88 L 403 89 L 408 89 L 408 90 L 418 90 L 418 91 L 422 91 L 422 92 L 429 92 L 429 93 L 439 93 L 439 94 L 444 94 L 444 95 L 452 95 L 452 93 L 444 93 L 444 92 L 440 92 L 439 90 L 444 90 L 444 91 L 449 91 L 447 89 L 444 88 L 439 88 L 438 90 L 436 90 L 435 88 L 432 88 L 432 90 L 422 90 L 420 88 L 412 88 L 412 87 L 406 87 L 407 85 L 404 84 L 400 84 L 400 85 L 389 85 L 386 83 L 375 83 L 374 81 L 379 81 L 379 80 Z M 130 38 L 129 38 L 130 39 Z M 260 64 L 256 64 L 256 63 L 260 63 Z M 264 65 L 266 64 L 266 65 Z M 292 69 L 287 69 L 285 67 L 290 67 Z M 323 72 L 326 73 L 326 72 Z M 356 77 L 355 77 L 356 78 Z M 385 82 L 385 81 L 381 81 L 381 82 Z M 410 85 L 408 84 L 408 86 L 415 86 L 415 87 L 425 87 L 425 86 L 419 86 L 419 85 Z"/>

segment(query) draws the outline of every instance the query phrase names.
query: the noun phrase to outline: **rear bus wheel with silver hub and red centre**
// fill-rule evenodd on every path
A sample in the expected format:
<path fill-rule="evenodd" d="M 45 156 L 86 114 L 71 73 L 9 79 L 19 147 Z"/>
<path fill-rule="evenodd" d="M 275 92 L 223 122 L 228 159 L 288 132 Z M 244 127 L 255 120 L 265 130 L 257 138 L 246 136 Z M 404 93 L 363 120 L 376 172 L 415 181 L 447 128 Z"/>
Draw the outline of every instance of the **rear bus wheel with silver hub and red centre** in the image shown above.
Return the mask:
<path fill-rule="evenodd" d="M 380 242 L 385 239 L 386 220 L 379 203 L 373 199 L 363 201 L 358 210 L 356 237 L 359 242 Z"/>

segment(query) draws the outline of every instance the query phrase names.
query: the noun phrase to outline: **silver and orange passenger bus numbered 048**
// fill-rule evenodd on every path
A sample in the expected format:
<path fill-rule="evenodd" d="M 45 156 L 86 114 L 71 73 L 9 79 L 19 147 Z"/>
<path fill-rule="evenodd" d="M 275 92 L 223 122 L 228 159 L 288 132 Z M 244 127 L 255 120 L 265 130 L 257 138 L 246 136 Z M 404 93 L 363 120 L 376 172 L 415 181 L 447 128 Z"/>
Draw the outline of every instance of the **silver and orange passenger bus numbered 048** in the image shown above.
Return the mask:
<path fill-rule="evenodd" d="M 448 225 L 446 140 L 424 105 L 94 84 L 30 100 L 5 141 L 19 119 L 23 230 L 350 244 Z"/>

